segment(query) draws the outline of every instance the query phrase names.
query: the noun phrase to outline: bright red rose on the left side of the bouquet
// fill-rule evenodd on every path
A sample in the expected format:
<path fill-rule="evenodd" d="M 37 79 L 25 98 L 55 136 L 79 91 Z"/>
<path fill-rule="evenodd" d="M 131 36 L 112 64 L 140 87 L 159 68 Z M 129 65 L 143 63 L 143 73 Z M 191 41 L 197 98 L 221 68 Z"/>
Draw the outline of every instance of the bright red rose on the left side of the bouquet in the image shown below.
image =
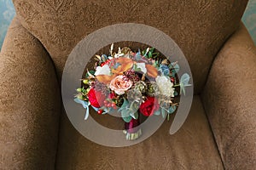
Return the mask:
<path fill-rule="evenodd" d="M 88 99 L 90 101 L 90 105 L 100 108 L 102 107 L 106 96 L 102 94 L 100 91 L 96 91 L 94 88 L 90 88 L 88 95 Z"/>

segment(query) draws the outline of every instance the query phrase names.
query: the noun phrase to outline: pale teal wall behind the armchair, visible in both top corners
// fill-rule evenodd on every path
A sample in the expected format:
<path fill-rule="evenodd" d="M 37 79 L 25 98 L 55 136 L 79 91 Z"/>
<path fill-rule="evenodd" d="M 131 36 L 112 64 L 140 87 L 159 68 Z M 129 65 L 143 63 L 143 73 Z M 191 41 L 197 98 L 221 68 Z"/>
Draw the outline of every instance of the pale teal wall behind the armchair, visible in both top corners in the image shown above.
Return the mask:
<path fill-rule="evenodd" d="M 11 0 L 0 0 L 0 50 L 3 44 L 6 31 L 10 21 L 15 16 L 15 8 Z M 247 26 L 248 31 L 256 44 L 256 0 L 250 0 L 247 10 L 242 17 L 242 21 Z"/>

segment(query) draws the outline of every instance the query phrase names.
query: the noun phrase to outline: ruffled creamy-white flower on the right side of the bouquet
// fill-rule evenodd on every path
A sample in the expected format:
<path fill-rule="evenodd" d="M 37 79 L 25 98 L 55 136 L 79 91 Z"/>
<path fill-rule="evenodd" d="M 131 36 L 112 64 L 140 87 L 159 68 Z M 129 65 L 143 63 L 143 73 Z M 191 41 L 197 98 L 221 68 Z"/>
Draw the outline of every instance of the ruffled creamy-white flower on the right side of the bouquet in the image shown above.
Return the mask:
<path fill-rule="evenodd" d="M 166 76 L 158 76 L 155 78 L 156 84 L 160 89 L 160 94 L 166 95 L 167 97 L 174 97 L 173 83 Z"/>

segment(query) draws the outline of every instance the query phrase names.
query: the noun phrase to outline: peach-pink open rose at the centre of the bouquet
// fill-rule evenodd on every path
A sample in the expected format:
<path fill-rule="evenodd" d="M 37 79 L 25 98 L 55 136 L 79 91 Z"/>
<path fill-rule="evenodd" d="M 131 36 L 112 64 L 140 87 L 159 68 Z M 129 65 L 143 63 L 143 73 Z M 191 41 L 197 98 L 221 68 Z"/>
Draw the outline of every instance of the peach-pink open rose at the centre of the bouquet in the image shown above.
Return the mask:
<path fill-rule="evenodd" d="M 132 82 L 125 76 L 114 77 L 110 82 L 109 88 L 112 89 L 116 94 L 125 94 L 129 88 L 131 88 Z"/>

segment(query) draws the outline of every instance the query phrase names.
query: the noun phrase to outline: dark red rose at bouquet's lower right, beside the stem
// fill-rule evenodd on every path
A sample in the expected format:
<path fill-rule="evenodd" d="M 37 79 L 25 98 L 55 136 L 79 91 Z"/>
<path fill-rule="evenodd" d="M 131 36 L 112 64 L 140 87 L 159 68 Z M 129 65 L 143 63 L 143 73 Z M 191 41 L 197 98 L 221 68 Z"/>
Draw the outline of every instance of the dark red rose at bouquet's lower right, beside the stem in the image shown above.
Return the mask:
<path fill-rule="evenodd" d="M 160 105 L 158 103 L 158 100 L 154 97 L 148 97 L 147 100 L 140 106 L 140 112 L 144 116 L 152 116 L 154 114 L 154 111 L 158 111 L 160 108 Z"/>

